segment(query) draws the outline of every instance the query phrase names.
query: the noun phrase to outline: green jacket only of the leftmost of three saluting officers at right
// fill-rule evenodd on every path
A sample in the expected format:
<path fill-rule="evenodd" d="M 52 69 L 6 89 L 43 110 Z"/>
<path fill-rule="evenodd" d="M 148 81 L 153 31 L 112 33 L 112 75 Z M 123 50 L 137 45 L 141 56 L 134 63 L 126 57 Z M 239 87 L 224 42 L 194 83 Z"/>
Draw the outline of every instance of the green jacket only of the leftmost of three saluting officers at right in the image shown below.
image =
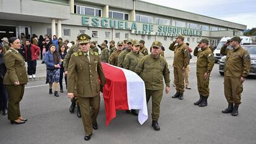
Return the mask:
<path fill-rule="evenodd" d="M 189 65 L 189 49 L 187 49 L 186 44 L 175 45 L 175 43 L 171 43 L 169 49 L 174 51 L 173 67 L 182 69 L 182 67 L 186 68 Z"/>

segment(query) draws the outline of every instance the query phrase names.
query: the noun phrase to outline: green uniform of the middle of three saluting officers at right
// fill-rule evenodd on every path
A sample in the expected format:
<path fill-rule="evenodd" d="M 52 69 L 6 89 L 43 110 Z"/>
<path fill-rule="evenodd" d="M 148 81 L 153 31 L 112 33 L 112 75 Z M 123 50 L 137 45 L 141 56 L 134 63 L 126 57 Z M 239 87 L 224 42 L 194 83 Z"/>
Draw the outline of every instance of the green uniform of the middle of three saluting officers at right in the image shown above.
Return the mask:
<path fill-rule="evenodd" d="M 198 51 L 198 48 L 195 48 L 194 56 L 197 56 L 197 89 L 199 95 L 208 97 L 210 93 L 210 77 L 205 80 L 204 75 L 206 72 L 210 75 L 213 69 L 215 62 L 213 52 L 209 47 L 203 48 L 200 51 Z"/>

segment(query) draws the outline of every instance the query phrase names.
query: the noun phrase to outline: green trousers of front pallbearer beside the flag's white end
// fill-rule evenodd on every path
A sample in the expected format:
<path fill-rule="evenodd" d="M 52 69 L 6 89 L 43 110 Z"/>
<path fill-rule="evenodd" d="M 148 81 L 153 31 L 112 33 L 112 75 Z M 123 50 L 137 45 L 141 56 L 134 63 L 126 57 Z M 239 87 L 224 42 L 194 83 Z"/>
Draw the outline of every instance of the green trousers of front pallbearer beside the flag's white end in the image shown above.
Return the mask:
<path fill-rule="evenodd" d="M 160 103 L 163 98 L 163 90 L 146 90 L 147 103 L 152 101 L 152 120 L 158 121 L 160 116 Z"/>

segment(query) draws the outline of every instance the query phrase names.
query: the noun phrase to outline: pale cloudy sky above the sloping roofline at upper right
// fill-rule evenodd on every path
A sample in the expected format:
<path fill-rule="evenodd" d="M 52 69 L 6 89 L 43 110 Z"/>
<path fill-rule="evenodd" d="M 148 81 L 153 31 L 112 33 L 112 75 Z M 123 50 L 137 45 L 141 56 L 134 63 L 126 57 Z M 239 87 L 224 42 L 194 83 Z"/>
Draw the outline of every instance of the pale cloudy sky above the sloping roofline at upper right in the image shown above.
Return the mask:
<path fill-rule="evenodd" d="M 256 0 L 141 0 L 256 28 Z"/>

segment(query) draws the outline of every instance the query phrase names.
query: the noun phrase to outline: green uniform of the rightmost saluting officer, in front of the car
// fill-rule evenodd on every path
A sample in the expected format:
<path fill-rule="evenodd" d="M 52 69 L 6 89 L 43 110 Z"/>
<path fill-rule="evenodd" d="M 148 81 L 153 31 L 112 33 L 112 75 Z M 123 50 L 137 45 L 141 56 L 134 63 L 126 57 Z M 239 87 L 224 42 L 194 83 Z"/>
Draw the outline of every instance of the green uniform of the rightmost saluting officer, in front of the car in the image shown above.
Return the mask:
<path fill-rule="evenodd" d="M 243 90 L 241 77 L 247 77 L 250 72 L 250 54 L 242 46 L 236 49 L 227 49 L 223 46 L 220 51 L 226 55 L 226 67 L 224 70 L 224 94 L 228 103 L 241 104 Z"/>

